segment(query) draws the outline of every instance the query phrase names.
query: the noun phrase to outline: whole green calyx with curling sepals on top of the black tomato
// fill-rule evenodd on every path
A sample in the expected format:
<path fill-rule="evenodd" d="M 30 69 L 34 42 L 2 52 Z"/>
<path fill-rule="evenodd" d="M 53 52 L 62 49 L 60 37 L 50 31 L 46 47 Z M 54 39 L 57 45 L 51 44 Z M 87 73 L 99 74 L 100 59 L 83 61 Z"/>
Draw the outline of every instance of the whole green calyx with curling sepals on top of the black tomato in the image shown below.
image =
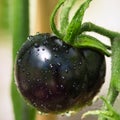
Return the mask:
<path fill-rule="evenodd" d="M 77 0 L 59 0 L 50 19 L 51 29 L 53 33 L 58 38 L 66 42 L 67 44 L 70 44 L 78 48 L 81 48 L 81 47 L 92 48 L 92 49 L 102 52 L 103 54 L 107 56 L 110 56 L 111 54 L 109 52 L 109 49 L 110 49 L 109 46 L 105 45 L 100 40 L 92 36 L 85 35 L 85 32 L 93 31 L 93 27 L 97 29 L 100 28 L 98 26 L 95 26 L 92 23 L 82 24 L 84 13 L 86 9 L 89 7 L 89 4 L 92 0 L 84 0 L 84 2 L 79 6 L 77 11 L 75 12 L 75 15 L 73 16 L 72 20 L 71 21 L 69 20 L 70 10 L 74 6 L 76 1 Z M 60 19 L 58 21 L 60 25 L 60 29 L 57 29 L 56 24 L 55 24 L 55 16 L 60 7 L 62 7 L 62 9 L 60 10 Z M 101 33 L 103 32 L 102 30 L 94 31 L 94 32 Z M 104 31 L 108 33 L 106 29 Z M 84 35 L 82 33 L 84 33 Z"/>

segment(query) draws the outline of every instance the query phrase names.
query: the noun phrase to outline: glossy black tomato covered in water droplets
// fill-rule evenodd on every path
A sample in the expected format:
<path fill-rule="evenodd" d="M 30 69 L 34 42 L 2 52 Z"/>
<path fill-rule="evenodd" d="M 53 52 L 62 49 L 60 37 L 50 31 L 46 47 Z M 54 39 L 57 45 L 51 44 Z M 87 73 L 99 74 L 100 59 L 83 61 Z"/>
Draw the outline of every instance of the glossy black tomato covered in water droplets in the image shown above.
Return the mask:
<path fill-rule="evenodd" d="M 91 102 L 104 82 L 105 58 L 90 49 L 39 34 L 20 49 L 15 65 L 19 91 L 37 110 L 62 113 Z"/>

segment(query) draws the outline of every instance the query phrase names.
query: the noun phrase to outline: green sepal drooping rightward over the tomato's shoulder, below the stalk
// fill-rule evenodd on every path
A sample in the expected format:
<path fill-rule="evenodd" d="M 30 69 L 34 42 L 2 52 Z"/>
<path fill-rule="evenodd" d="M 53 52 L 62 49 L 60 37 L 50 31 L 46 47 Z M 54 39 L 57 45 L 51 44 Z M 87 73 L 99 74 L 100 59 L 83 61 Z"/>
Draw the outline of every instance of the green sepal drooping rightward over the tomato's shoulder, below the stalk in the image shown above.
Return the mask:
<path fill-rule="evenodd" d="M 108 46 L 104 45 L 102 42 L 100 42 L 99 40 L 97 40 L 96 38 L 90 35 L 81 34 L 77 36 L 76 40 L 72 45 L 78 48 L 92 48 L 102 52 L 103 54 L 106 54 L 107 56 L 111 55 L 108 52 L 108 49 L 107 49 L 109 48 Z"/>

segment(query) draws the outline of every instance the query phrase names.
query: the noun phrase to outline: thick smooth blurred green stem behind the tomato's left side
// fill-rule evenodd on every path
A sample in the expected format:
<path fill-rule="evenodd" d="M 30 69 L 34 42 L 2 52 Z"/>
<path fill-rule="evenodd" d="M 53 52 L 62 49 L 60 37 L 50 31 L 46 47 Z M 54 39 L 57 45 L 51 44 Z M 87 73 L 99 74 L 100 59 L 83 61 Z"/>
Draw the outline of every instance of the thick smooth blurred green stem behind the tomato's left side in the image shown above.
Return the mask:
<path fill-rule="evenodd" d="M 13 0 L 12 5 L 13 5 L 12 7 L 13 64 L 14 64 L 16 54 L 20 46 L 23 44 L 23 42 L 26 40 L 29 34 L 29 12 L 28 12 L 29 2 L 28 0 Z M 34 120 L 35 110 L 26 105 L 25 101 L 18 93 L 14 81 L 14 73 L 12 73 L 11 97 L 13 102 L 15 120 Z"/>

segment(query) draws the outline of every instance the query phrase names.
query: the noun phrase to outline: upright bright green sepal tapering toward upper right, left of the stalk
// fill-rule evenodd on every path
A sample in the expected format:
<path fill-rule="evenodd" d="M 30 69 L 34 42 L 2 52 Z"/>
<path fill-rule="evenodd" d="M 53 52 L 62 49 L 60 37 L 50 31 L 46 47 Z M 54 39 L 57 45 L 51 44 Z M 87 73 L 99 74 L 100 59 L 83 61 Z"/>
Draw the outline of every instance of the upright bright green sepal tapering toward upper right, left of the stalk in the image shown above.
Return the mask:
<path fill-rule="evenodd" d="M 74 38 L 78 35 L 81 28 L 84 13 L 91 1 L 92 0 L 86 0 L 73 16 L 70 24 L 67 27 L 65 37 L 63 38 L 65 42 L 72 43 L 74 41 Z"/>

